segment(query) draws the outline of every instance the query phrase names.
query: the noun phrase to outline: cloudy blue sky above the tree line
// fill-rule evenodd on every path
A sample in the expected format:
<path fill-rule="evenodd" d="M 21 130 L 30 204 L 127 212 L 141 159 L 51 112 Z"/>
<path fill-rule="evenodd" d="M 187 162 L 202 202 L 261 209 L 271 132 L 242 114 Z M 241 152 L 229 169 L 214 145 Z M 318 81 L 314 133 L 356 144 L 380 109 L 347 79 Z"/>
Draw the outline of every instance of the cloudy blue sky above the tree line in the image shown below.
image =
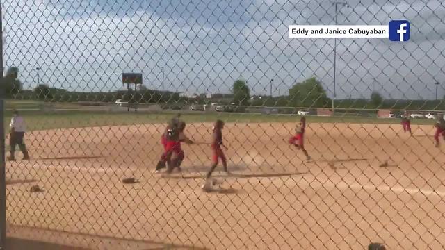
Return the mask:
<path fill-rule="evenodd" d="M 339 24 L 408 19 L 411 40 L 337 40 L 338 98 L 367 98 L 373 83 L 393 98 L 445 87 L 444 3 L 347 2 Z M 242 77 L 265 94 L 273 78 L 277 95 L 316 76 L 332 97 L 334 40 L 288 38 L 291 24 L 334 24 L 332 1 L 6 0 L 3 19 L 5 66 L 19 67 L 25 88 L 42 67 L 42 82 L 77 91 L 122 88 L 122 72 L 141 72 L 148 88 L 190 93 L 229 92 Z"/>

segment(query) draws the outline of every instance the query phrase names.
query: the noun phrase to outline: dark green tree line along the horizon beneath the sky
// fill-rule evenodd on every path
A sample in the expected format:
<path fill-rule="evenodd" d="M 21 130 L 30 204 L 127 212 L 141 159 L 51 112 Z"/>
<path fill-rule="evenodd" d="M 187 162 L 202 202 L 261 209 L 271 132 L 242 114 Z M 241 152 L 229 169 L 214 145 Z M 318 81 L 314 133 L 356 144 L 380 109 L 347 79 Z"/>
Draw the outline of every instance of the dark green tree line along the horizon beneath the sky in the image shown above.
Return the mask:
<path fill-rule="evenodd" d="M 211 103 L 205 94 L 195 98 L 181 97 L 177 92 L 149 90 L 141 86 L 138 90 L 117 90 L 113 92 L 72 92 L 49 85 L 40 84 L 33 90 L 23 90 L 18 78 L 19 69 L 10 67 L 3 78 L 6 97 L 15 99 L 39 99 L 52 102 L 114 102 L 117 99 L 129 103 Z M 224 94 L 220 94 L 224 97 Z M 214 94 L 215 97 L 218 94 Z M 323 85 L 315 77 L 295 83 L 289 93 L 280 97 L 251 95 L 247 82 L 237 79 L 233 83 L 232 100 L 236 106 L 332 108 L 332 99 L 327 97 Z M 219 100 L 221 101 L 221 100 Z M 229 104 L 229 103 L 227 103 Z M 410 109 L 410 110 L 445 110 L 445 97 L 442 100 L 396 100 L 383 99 L 381 94 L 373 92 L 369 99 L 337 99 L 334 108 L 339 109 Z"/>

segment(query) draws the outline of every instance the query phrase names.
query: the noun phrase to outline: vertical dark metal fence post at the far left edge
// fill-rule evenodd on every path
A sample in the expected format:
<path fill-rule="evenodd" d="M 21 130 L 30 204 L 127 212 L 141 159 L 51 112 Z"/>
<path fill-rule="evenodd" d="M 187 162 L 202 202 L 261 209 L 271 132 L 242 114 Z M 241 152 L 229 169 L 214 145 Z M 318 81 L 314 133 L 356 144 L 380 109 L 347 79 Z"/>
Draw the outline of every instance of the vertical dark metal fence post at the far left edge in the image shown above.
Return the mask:
<path fill-rule="evenodd" d="M 6 247 L 5 88 L 3 84 L 3 8 L 0 0 L 0 249 Z"/>

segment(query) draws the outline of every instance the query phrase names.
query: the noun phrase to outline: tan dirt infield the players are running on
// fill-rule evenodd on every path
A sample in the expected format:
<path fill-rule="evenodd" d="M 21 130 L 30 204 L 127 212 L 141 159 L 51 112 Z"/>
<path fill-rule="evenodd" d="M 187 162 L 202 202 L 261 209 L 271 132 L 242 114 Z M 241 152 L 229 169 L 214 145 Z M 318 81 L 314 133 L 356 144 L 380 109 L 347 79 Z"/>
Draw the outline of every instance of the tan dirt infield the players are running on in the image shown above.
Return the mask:
<path fill-rule="evenodd" d="M 160 131 L 145 124 L 28 135 L 33 160 L 6 169 L 17 183 L 7 186 L 8 224 L 209 249 L 445 244 L 445 145 L 433 147 L 432 126 L 413 126 L 410 137 L 398 125 L 309 124 L 313 160 L 306 163 L 286 143 L 293 124 L 227 124 L 234 176 L 217 172 L 222 184 L 211 193 L 199 188 L 207 145 L 184 146 L 182 174 L 152 173 Z M 211 124 L 189 124 L 186 132 L 209 142 Z M 125 185 L 125 177 L 140 183 Z M 44 192 L 30 193 L 35 184 Z"/>

